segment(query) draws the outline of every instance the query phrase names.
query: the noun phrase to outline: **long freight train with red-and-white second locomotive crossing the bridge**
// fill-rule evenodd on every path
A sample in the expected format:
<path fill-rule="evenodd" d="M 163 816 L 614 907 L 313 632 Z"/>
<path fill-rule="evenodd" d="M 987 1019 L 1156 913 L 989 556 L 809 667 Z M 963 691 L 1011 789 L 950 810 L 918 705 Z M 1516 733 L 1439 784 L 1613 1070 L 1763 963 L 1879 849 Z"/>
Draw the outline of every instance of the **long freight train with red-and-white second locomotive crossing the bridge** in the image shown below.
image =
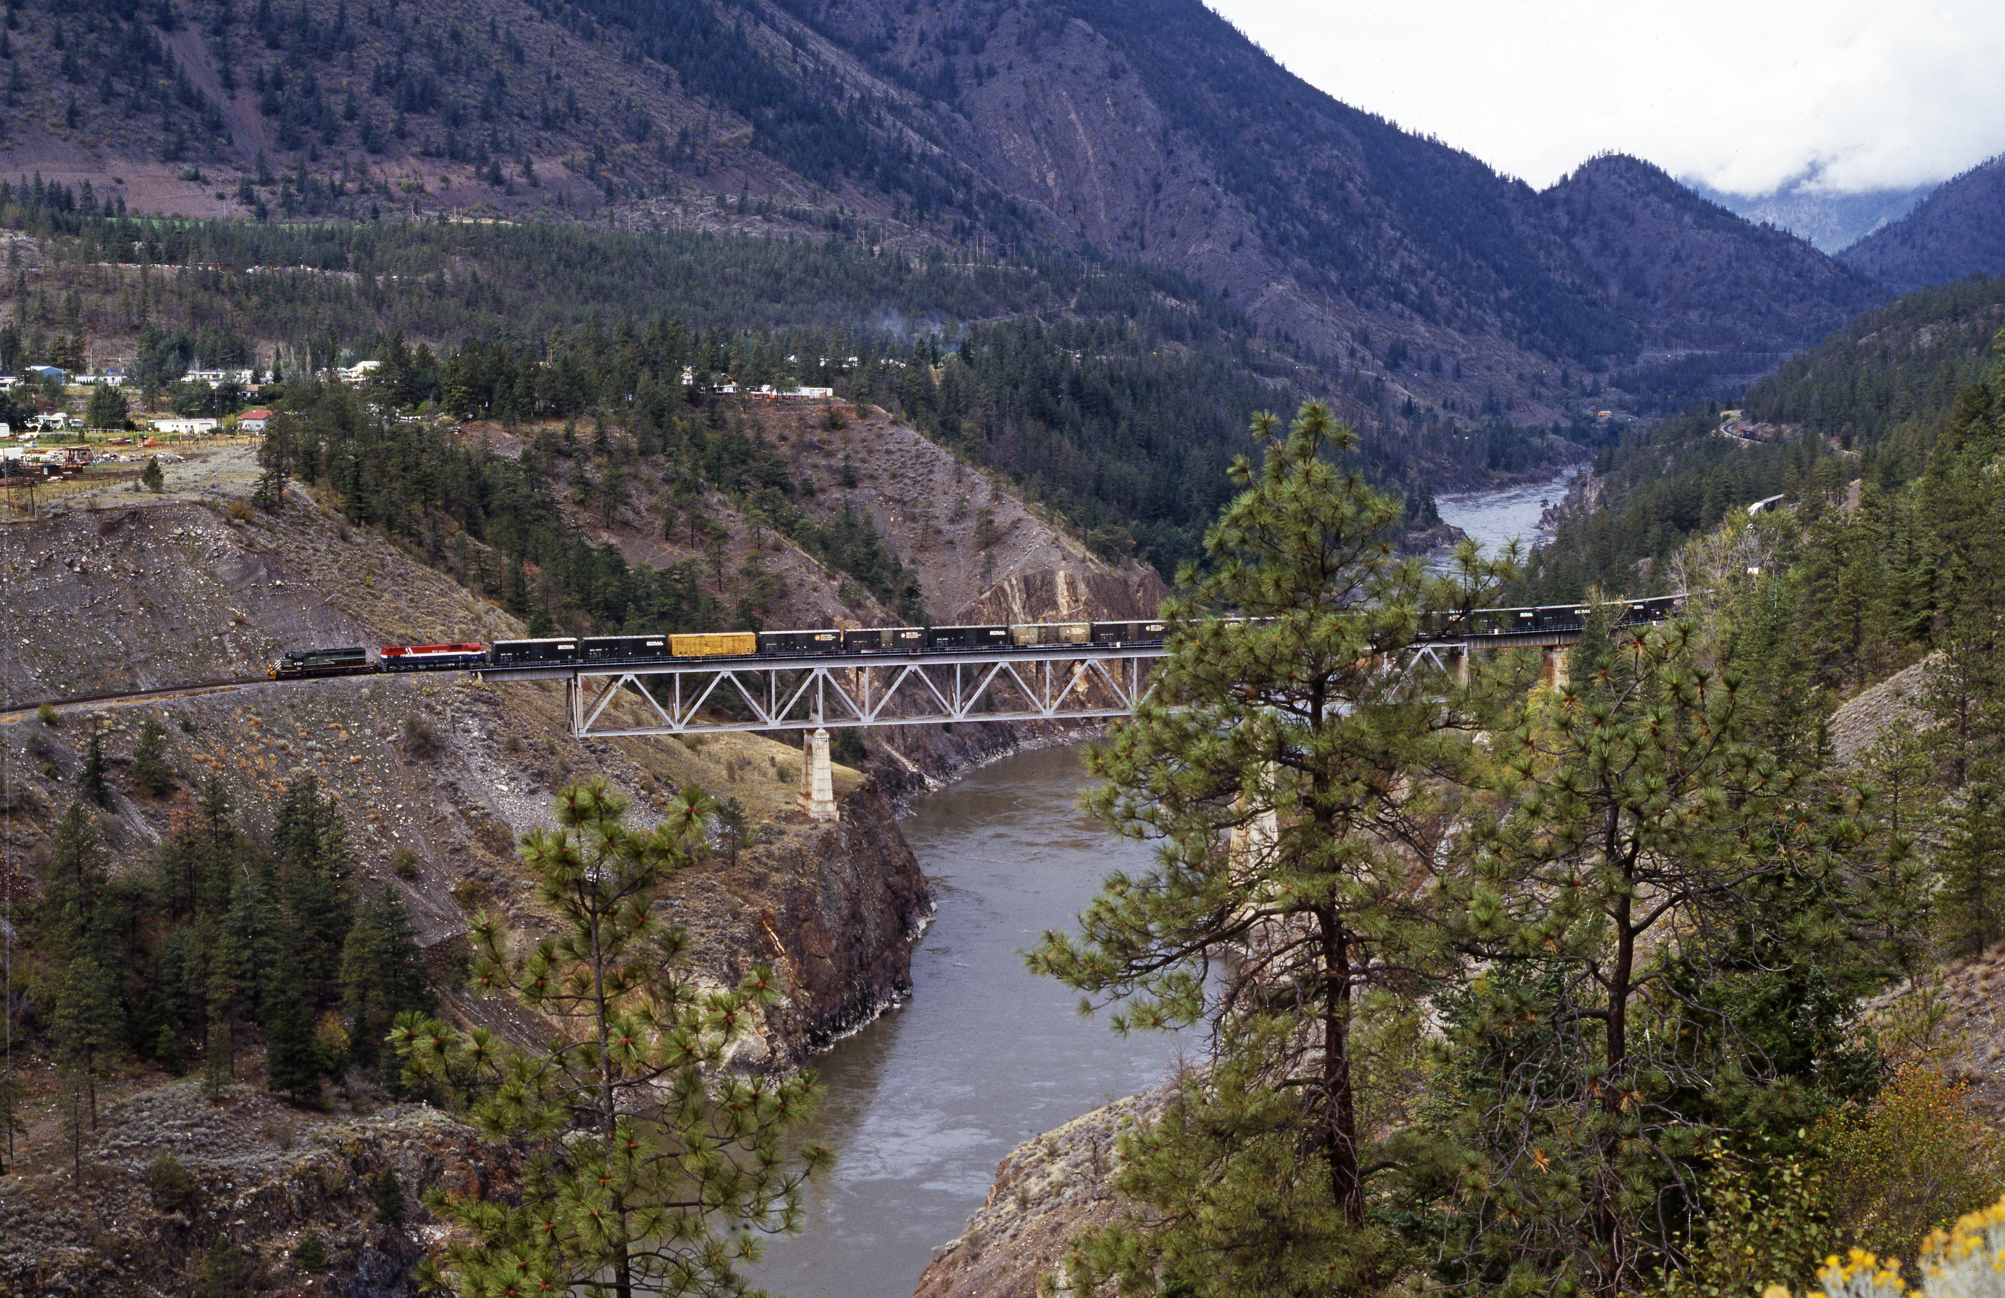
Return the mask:
<path fill-rule="evenodd" d="M 1682 596 L 1604 604 L 1612 626 L 1662 622 Z M 1594 606 L 1480 608 L 1422 614 L 1416 644 L 1466 642 L 1526 632 L 1568 632 L 1588 624 Z M 900 654 L 980 654 L 996 650 L 1151 648 L 1167 622 L 1021 622 L 1013 626 L 874 626 L 790 632 L 698 632 L 658 636 L 543 636 L 493 644 L 387 644 L 371 658 L 363 646 L 297 650 L 271 666 L 273 680 L 359 676 L 371 672 L 477 672 L 533 666 L 622 666 L 732 658 L 894 658 Z"/>

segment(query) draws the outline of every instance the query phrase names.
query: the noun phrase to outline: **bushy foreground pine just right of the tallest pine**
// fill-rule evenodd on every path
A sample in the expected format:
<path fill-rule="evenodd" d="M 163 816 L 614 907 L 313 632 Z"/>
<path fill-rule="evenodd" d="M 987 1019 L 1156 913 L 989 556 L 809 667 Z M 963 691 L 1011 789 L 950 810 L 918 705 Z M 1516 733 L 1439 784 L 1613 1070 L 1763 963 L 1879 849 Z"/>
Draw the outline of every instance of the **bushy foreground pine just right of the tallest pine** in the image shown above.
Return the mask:
<path fill-rule="evenodd" d="M 1478 1274 L 1632 1290 L 1694 1208 L 1700 1131 L 1796 1129 L 1847 1085 L 1819 1075 L 1851 1067 L 1825 971 L 1903 947 L 1917 867 L 1857 794 L 1746 744 L 1740 692 L 1694 624 L 1628 630 L 1496 740 L 1500 815 L 1444 889 L 1492 963 L 1456 1039 L 1452 1252 Z"/>

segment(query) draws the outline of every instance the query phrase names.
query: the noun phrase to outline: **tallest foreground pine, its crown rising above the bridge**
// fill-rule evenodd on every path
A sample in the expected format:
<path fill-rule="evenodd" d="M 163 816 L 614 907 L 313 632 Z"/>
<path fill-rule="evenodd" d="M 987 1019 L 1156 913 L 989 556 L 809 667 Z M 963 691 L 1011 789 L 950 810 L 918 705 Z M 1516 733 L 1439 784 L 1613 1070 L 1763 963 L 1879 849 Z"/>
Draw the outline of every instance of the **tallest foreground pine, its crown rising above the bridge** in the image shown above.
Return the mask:
<path fill-rule="evenodd" d="M 1213 1033 L 1211 1071 L 1121 1142 L 1139 1222 L 1089 1230 L 1075 1292 L 1367 1292 L 1391 1240 L 1367 1220 L 1385 1097 L 1359 1039 L 1426 985 L 1440 933 L 1416 873 L 1446 806 L 1428 772 L 1472 758 L 1470 696 L 1387 670 L 1422 612 L 1488 598 L 1464 546 L 1428 578 L 1391 550 L 1401 504 L 1355 465 L 1355 433 L 1305 405 L 1285 437 L 1263 415 L 1259 467 L 1205 536 L 1211 570 L 1165 606 L 1181 624 L 1153 694 L 1089 756 L 1093 808 L 1159 843 L 1111 877 L 1081 935 L 1031 953 L 1113 1023 Z M 1239 620 L 1245 618 L 1245 620 Z M 1231 969 L 1229 975 L 1221 975 Z M 1391 1011 L 1399 1013 L 1399 1011 Z"/>

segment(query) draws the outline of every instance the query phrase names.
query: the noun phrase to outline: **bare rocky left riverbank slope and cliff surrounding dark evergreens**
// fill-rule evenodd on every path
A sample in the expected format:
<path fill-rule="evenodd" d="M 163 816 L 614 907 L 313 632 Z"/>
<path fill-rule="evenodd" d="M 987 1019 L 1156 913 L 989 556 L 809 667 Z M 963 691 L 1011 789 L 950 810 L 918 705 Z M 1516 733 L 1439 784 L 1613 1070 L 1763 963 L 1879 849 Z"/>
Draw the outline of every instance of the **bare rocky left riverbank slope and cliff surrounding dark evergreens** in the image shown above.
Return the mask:
<path fill-rule="evenodd" d="M 680 788 L 702 784 L 746 806 L 750 843 L 686 871 L 666 901 L 690 929 L 700 979 L 732 983 L 752 963 L 770 963 L 784 989 L 736 1063 L 794 1067 L 908 993 L 910 949 L 932 895 L 888 796 L 864 776 L 838 768 L 844 819 L 814 825 L 796 810 L 800 750 L 784 742 L 573 740 L 561 690 L 549 682 L 263 680 L 281 648 L 519 628 L 303 496 L 263 514 L 243 508 L 233 492 L 245 483 L 219 461 L 172 473 L 160 502 L 78 498 L 38 522 L 0 528 L 12 618 L 0 654 L 10 704 L 0 710 L 8 774 L 0 887 L 16 917 L 38 895 L 48 835 L 76 796 L 92 734 L 110 762 L 110 804 L 92 817 L 114 873 L 148 867 L 211 774 L 251 827 L 269 825 L 285 786 L 311 774 L 343 815 L 361 885 L 405 901 L 439 973 L 451 969 L 473 909 L 501 913 L 523 935 L 555 925 L 515 859 L 525 831 L 553 823 L 555 788 L 604 776 L 634 817 L 652 819 Z M 142 688 L 168 692 L 34 710 L 38 700 Z M 160 794 L 128 778 L 148 718 L 164 722 L 174 768 L 174 786 Z M 14 993 L 18 1025 L 46 1017 L 46 981 L 16 981 Z M 449 1003 L 513 1035 L 547 1027 L 459 993 Z M 158 1292 L 166 1286 L 148 1284 L 194 1278 L 194 1252 L 225 1238 L 225 1252 L 239 1250 L 239 1262 L 261 1268 L 279 1292 L 401 1294 L 425 1240 L 379 1230 L 357 1186 L 395 1166 L 415 1204 L 423 1184 L 479 1176 L 485 1166 L 439 1115 L 369 1117 L 381 1095 L 367 1087 L 351 1087 L 337 1117 L 249 1089 L 211 1103 L 136 1063 L 106 1081 L 112 1103 L 78 1166 L 58 1140 L 40 1045 L 16 1033 L 16 1051 L 30 1083 L 30 1131 L 20 1162 L 0 1178 L 0 1284 L 12 1292 Z M 243 1077 L 261 1081 L 257 1049 L 245 1053 Z M 343 1125 L 351 1121 L 359 1125 Z M 313 1144 L 309 1131 L 325 1140 Z M 138 1170 L 162 1152 L 192 1174 L 194 1206 L 142 1204 L 150 1192 Z M 415 1208 L 413 1220 L 421 1220 Z M 325 1236 L 339 1282 L 289 1270 L 307 1224 Z"/>

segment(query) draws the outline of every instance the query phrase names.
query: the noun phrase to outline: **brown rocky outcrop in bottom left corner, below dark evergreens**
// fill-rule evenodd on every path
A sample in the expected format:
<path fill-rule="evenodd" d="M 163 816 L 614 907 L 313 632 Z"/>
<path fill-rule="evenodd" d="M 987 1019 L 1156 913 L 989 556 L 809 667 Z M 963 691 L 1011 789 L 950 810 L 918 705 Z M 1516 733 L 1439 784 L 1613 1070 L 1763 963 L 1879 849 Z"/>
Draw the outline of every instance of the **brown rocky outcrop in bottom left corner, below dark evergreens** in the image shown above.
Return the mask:
<path fill-rule="evenodd" d="M 108 1107 L 74 1160 L 0 1178 L 0 1294 L 409 1298 L 443 1234 L 425 1190 L 481 1184 L 505 1162 L 425 1105 L 337 1117 L 178 1081 Z M 301 1266 L 309 1232 L 327 1274 Z"/>

